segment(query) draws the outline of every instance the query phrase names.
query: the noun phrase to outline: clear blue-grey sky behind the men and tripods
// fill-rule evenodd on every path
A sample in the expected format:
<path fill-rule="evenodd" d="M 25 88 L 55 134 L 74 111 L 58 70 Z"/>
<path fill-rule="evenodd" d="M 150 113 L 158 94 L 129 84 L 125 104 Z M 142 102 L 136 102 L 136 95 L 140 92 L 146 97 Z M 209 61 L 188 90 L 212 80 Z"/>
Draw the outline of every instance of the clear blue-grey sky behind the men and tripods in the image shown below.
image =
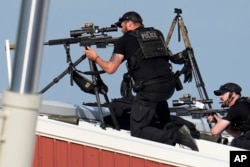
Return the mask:
<path fill-rule="evenodd" d="M 8 89 L 8 75 L 5 40 L 15 44 L 17 39 L 17 27 L 20 14 L 21 1 L 2 1 L 0 5 L 0 91 Z M 155 27 L 161 30 L 166 37 L 170 25 L 175 18 L 175 8 L 182 9 L 182 18 L 188 30 L 192 48 L 194 50 L 196 70 L 201 73 L 201 80 L 209 99 L 213 100 L 213 108 L 220 108 L 219 99 L 213 94 L 220 85 L 227 82 L 238 83 L 242 87 L 242 95 L 250 96 L 249 70 L 249 38 L 250 38 L 250 1 L 249 0 L 50 0 L 48 20 L 45 30 L 45 42 L 53 39 L 70 37 L 71 30 L 78 30 L 85 23 L 93 23 L 95 26 L 109 27 L 115 23 L 125 12 L 136 11 L 143 18 L 146 27 Z M 112 37 L 122 35 L 120 29 L 117 32 L 108 33 Z M 169 43 L 173 53 L 185 49 L 183 40 L 177 38 L 177 26 Z M 95 48 L 94 46 L 92 46 Z M 70 55 L 74 61 L 83 55 L 83 47 L 79 44 L 70 45 Z M 110 58 L 112 46 L 105 49 L 97 49 L 98 54 L 105 60 Z M 11 51 L 12 59 L 14 51 Z M 45 88 L 53 79 L 58 77 L 68 68 L 66 52 L 63 45 L 44 45 L 41 71 L 39 77 L 38 92 Z M 178 70 L 182 66 L 173 66 Z M 80 71 L 89 71 L 87 59 L 83 60 L 76 68 Z M 101 74 L 101 78 L 108 86 L 109 99 L 119 98 L 120 83 L 123 73 L 126 72 L 125 64 L 113 74 Z M 89 78 L 89 76 L 85 76 Z M 181 77 L 183 81 L 183 76 Z M 183 94 L 191 94 L 200 99 L 197 82 L 183 84 L 184 89 L 174 93 L 172 100 L 177 100 Z M 0 92 L 0 93 L 1 93 Z M 100 95 L 103 102 L 104 99 Z M 81 105 L 83 102 L 95 102 L 96 97 L 87 94 L 80 88 L 70 84 L 70 75 L 66 74 L 59 82 L 54 83 L 42 94 L 44 100 L 61 101 L 70 104 Z"/>

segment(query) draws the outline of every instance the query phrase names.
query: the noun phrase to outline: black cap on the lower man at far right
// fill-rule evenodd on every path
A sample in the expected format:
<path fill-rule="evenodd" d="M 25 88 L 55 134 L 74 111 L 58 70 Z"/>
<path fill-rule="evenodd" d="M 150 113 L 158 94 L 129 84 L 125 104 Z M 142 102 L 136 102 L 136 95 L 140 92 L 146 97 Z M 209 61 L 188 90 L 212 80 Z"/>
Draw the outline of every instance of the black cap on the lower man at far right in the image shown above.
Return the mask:
<path fill-rule="evenodd" d="M 241 87 L 236 83 L 225 83 L 224 85 L 221 85 L 218 90 L 215 90 L 214 94 L 220 96 L 226 92 L 235 92 L 236 94 L 241 95 Z"/>

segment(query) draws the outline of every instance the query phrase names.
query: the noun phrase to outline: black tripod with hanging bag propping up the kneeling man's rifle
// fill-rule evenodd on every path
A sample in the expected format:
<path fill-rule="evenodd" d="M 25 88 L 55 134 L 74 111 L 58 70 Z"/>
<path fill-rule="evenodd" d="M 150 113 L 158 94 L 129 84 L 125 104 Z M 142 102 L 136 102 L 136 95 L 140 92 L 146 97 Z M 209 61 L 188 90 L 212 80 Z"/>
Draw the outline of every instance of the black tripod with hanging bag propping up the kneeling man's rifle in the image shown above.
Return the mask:
<path fill-rule="evenodd" d="M 84 72 L 84 74 L 91 75 L 92 76 L 92 82 L 88 81 L 86 78 L 78 74 L 76 71 L 76 66 L 80 64 L 85 58 L 86 55 L 82 55 L 79 59 L 77 59 L 74 63 L 71 60 L 70 56 L 70 47 L 69 44 L 64 44 L 64 48 L 66 51 L 67 55 L 67 63 L 69 63 L 69 67 L 64 70 L 61 74 L 59 74 L 57 77 L 55 77 L 52 82 L 50 82 L 47 86 L 45 86 L 39 93 L 44 93 L 46 92 L 50 87 L 52 87 L 54 84 L 59 82 L 60 79 L 62 79 L 66 74 L 71 75 L 71 85 L 73 85 L 73 80 L 77 83 L 77 85 L 86 93 L 91 93 L 96 95 L 96 101 L 97 101 L 97 106 L 98 106 L 98 111 L 99 111 L 99 117 L 100 117 L 100 122 L 101 122 L 101 127 L 103 129 L 106 128 L 105 122 L 103 119 L 103 112 L 102 112 L 102 106 L 101 106 L 101 100 L 99 94 L 103 94 L 104 98 L 106 100 L 106 103 L 109 104 L 109 98 L 107 95 L 107 86 L 104 84 L 104 82 L 101 79 L 100 74 L 104 73 L 103 71 L 98 71 L 96 64 L 92 61 L 89 60 L 89 66 L 90 66 L 90 71 L 89 72 Z M 113 123 L 115 125 L 115 129 L 119 130 L 118 122 L 116 120 L 114 111 L 111 107 L 109 107 L 110 110 L 110 115 L 113 120 Z"/>

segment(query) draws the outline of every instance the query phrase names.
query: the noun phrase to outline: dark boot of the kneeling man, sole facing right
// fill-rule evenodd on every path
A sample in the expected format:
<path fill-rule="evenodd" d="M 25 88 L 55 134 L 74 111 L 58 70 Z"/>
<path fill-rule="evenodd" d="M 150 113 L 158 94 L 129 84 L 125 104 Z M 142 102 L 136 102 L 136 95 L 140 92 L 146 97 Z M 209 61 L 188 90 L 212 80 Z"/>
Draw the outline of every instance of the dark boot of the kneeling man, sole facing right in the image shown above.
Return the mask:
<path fill-rule="evenodd" d="M 183 125 L 175 134 L 174 134 L 174 141 L 176 143 L 182 144 L 191 148 L 194 151 L 199 151 L 195 140 L 190 134 L 189 129 L 186 125 Z"/>

